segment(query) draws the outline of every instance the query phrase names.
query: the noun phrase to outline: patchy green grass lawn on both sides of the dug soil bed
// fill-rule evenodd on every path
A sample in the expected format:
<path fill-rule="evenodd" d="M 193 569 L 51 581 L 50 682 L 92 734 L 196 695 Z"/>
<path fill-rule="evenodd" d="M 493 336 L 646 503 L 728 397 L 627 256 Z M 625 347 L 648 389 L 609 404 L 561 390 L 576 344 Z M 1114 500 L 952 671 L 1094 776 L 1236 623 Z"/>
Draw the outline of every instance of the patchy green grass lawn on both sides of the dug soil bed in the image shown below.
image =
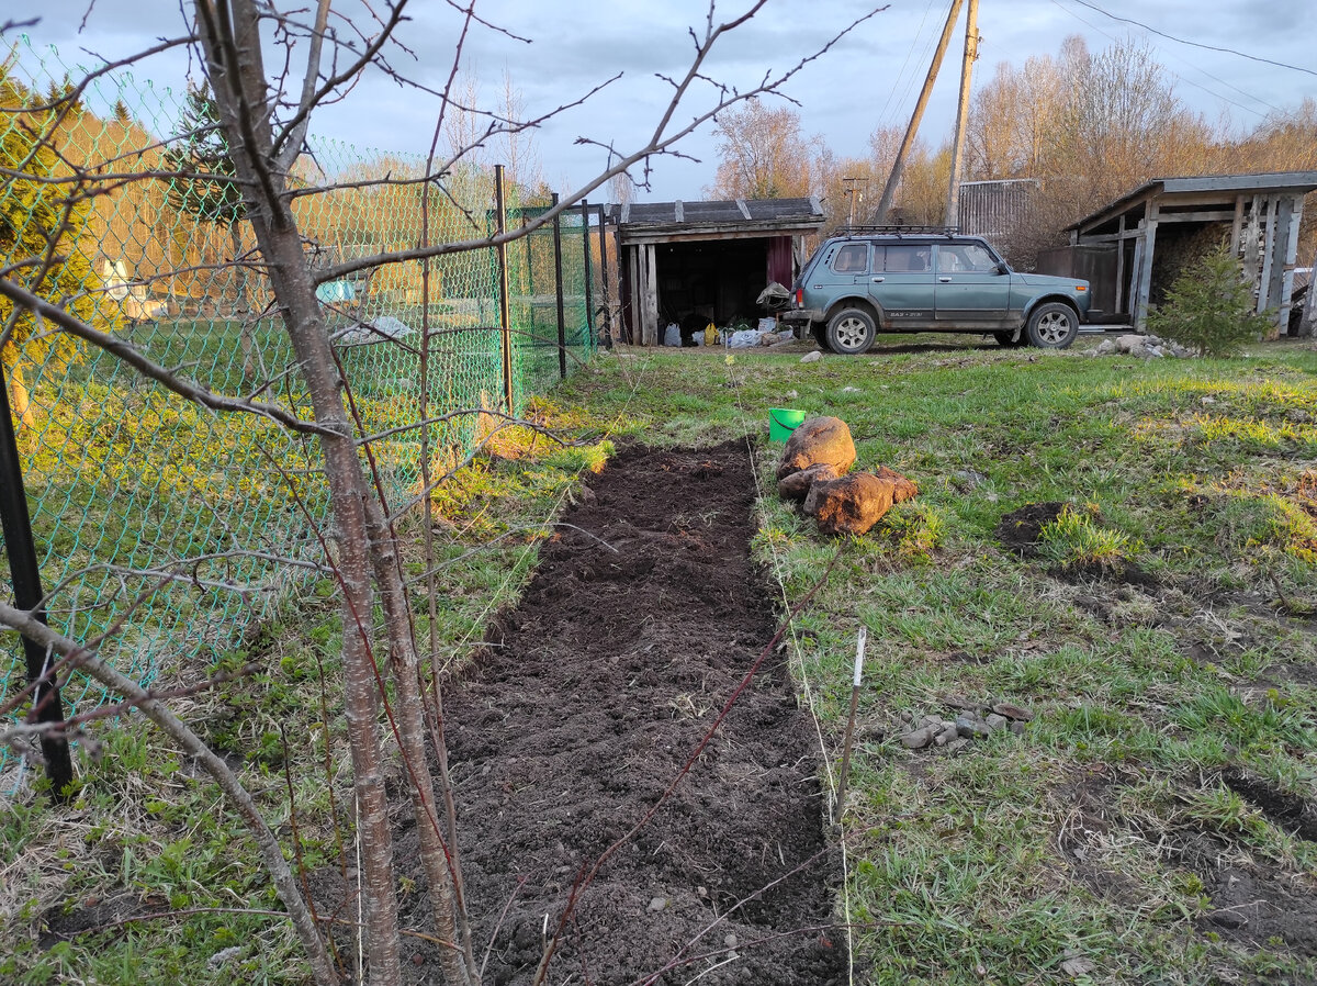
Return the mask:
<path fill-rule="evenodd" d="M 1293 944 L 1317 921 L 1317 845 L 1276 811 L 1317 788 L 1317 351 L 1143 361 L 1089 359 L 1092 344 L 898 337 L 803 365 L 803 347 L 601 355 L 533 409 L 581 447 L 520 436 L 436 496 L 439 656 L 464 660 L 515 597 L 606 442 L 752 436 L 766 492 L 755 550 L 784 602 L 799 598 L 835 542 L 773 496 L 768 407 L 838 415 L 856 468 L 921 488 L 847 543 L 793 635 L 831 774 L 868 627 L 838 829 L 856 982 L 1317 982 L 1312 937 Z M 1069 509 L 1021 558 L 997 526 L 1038 502 Z M 421 585 L 415 518 L 403 533 Z M 308 867 L 350 840 L 329 589 L 312 584 L 227 658 L 266 671 L 180 703 L 244 763 L 290 845 L 292 788 Z M 417 609 L 428 642 L 423 594 Z M 1034 718 L 955 754 L 906 750 L 910 717 L 952 718 L 948 700 Z M 278 910 L 215 787 L 137 718 L 97 734 L 71 811 L 0 809 L 0 979 L 304 981 L 286 921 L 215 910 Z M 1250 903 L 1242 879 L 1293 927 L 1222 917 Z M 180 914 L 113 923 L 167 911 Z M 70 914 L 96 920 L 42 941 Z"/>

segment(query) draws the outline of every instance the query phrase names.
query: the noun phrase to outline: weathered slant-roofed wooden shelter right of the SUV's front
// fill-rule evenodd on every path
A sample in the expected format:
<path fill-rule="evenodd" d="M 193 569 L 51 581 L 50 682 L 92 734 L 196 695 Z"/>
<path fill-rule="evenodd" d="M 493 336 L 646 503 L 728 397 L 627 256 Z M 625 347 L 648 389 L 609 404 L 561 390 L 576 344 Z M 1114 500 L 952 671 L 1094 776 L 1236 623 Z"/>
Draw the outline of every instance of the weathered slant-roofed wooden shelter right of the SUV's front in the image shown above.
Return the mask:
<path fill-rule="evenodd" d="M 1040 256 L 1039 270 L 1075 273 L 1073 268 L 1087 266 L 1112 272 L 1108 276 L 1114 283 L 1094 283 L 1094 297 L 1114 299 L 1105 314 L 1115 320 L 1123 316 L 1144 331 L 1148 304 L 1164 297 L 1180 270 L 1227 241 L 1254 285 L 1258 311 L 1274 310 L 1283 331 L 1289 319 L 1304 195 L 1314 188 L 1317 171 L 1156 178 L 1067 227 L 1071 246 Z M 1092 262 L 1096 254 L 1106 253 L 1114 257 Z"/>

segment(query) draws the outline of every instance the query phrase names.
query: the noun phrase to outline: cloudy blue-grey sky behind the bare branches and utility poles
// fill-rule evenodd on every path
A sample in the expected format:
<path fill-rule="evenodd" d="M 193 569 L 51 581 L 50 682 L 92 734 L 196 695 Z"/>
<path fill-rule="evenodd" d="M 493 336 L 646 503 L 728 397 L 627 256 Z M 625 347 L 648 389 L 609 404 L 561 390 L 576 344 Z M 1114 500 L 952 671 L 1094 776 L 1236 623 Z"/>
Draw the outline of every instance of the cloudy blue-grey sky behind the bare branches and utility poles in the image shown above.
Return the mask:
<path fill-rule="evenodd" d="M 275 3 L 281 8 L 291 5 L 286 0 Z M 724 0 L 718 20 L 738 16 L 745 3 L 732 5 Z M 296 7 L 307 5 L 309 0 Z M 40 24 L 25 29 L 32 42 L 58 46 L 66 62 L 90 63 L 88 51 L 120 58 L 186 28 L 179 5 L 162 0 L 96 0 L 80 32 L 87 0 L 45 0 L 24 7 L 22 16 L 41 17 Z M 868 136 L 877 127 L 903 128 L 948 7 L 950 0 L 892 0 L 888 9 L 807 65 L 784 87 L 801 104 L 805 132 L 820 134 L 838 156 L 851 157 L 867 153 Z M 4 0 L 3 8 L 16 11 L 16 4 Z M 190 5 L 184 3 L 184 8 Z M 855 0 L 768 0 L 752 21 L 719 44 L 705 74 L 751 87 L 765 72 L 780 72 L 813 54 L 869 9 L 871 4 Z M 411 54 L 395 49 L 390 61 L 417 82 L 441 87 L 452 66 L 460 18 L 444 0 L 412 0 L 408 12 L 412 20 L 400 37 Z M 656 74 L 685 72 L 693 53 L 689 29 L 703 32 L 707 5 L 689 0 L 487 0 L 477 5 L 477 13 L 532 40 L 524 44 L 483 28 L 471 33 L 464 65 L 479 79 L 482 95 L 491 103 L 500 98 L 504 70 L 532 116 L 581 99 L 594 86 L 622 74 L 585 105 L 537 132 L 544 177 L 566 191 L 597 174 L 605 160 L 599 148 L 577 145 L 578 137 L 611 142 L 619 150 L 648 137 L 672 91 Z M 1108 13 L 1254 58 L 1179 44 Z M 0 13 L 0 21 L 13 16 Z M 952 125 L 963 30 L 957 28 L 925 115 L 922 136 L 932 145 Z M 1030 55 L 1055 55 L 1067 36 L 1080 34 L 1090 51 L 1129 36 L 1147 40 L 1173 74 L 1176 92 L 1187 104 L 1213 121 L 1229 115 L 1237 128 L 1255 125 L 1272 109 L 1293 111 L 1305 96 L 1317 95 L 1317 13 L 1308 0 L 981 0 L 979 30 L 982 45 L 975 67 L 976 88 L 1000 62 L 1022 65 Z M 187 71 L 187 58 L 174 53 L 138 67 L 136 76 L 180 87 Z M 689 121 L 709 105 L 710 98 L 707 86 L 695 88 L 674 120 Z M 360 146 L 423 152 L 435 116 L 432 98 L 377 75 L 363 80 L 342 104 L 324 109 L 312 132 Z M 698 161 L 656 161 L 652 188 L 639 191 L 639 200 L 703 195 L 716 167 L 711 128 L 706 125 L 681 149 Z M 605 195 L 591 198 L 602 200 Z"/>

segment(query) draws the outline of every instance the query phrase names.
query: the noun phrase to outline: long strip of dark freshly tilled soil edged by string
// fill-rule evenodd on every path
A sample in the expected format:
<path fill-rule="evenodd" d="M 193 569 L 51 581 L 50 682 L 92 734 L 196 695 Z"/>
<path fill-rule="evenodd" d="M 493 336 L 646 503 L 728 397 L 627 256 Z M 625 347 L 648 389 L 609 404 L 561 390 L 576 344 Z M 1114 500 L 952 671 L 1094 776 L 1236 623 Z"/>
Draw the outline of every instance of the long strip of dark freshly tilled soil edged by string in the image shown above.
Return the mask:
<path fill-rule="evenodd" d="M 590 485 L 446 695 L 490 983 L 531 982 L 573 884 L 660 799 L 776 630 L 749 558 L 744 443 L 631 450 Z M 669 964 L 653 982 L 844 979 L 815 767 L 772 654 L 653 820 L 581 890 L 548 982 L 645 982 Z M 400 856 L 414 845 L 410 832 Z M 424 883 L 419 866 L 407 875 Z M 428 949 L 414 961 L 437 978 Z"/>

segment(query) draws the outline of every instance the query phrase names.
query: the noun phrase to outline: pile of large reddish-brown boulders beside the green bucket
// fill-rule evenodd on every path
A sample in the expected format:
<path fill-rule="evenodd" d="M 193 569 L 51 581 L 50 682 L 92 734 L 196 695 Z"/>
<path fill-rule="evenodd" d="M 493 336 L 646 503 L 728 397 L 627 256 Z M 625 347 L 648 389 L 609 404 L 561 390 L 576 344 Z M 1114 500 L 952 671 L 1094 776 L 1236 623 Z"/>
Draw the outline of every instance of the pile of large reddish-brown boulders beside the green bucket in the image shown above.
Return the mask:
<path fill-rule="evenodd" d="M 810 418 L 792 432 L 777 467 L 777 493 L 802 505 L 824 534 L 864 534 L 893 504 L 919 488 L 881 467 L 876 473 L 847 475 L 855 464 L 855 442 L 840 418 Z"/>

